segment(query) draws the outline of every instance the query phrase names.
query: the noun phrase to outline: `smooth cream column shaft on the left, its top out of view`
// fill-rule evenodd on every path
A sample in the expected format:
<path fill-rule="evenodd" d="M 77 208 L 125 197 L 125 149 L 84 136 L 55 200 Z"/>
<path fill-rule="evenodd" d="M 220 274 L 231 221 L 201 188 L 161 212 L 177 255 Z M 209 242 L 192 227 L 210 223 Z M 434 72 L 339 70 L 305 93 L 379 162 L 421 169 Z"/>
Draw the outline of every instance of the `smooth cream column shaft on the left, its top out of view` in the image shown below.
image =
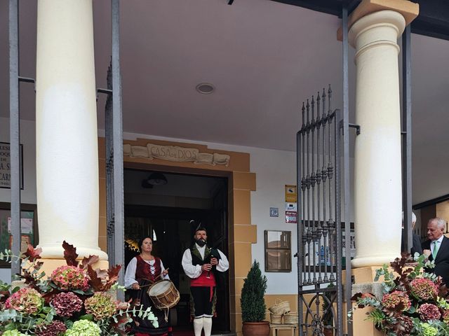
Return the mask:
<path fill-rule="evenodd" d="M 39 0 L 36 180 L 43 258 L 99 255 L 92 0 Z"/>

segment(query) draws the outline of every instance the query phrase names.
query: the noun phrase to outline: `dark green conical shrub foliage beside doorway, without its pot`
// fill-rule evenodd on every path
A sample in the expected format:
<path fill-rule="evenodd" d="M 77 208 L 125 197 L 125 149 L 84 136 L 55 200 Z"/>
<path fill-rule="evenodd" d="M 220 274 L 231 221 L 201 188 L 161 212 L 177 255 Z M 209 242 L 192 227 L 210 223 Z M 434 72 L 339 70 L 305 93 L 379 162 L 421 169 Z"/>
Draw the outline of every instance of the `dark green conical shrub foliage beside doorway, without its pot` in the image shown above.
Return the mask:
<path fill-rule="evenodd" d="M 243 280 L 240 305 L 243 322 L 260 322 L 265 318 L 264 294 L 267 290 L 267 276 L 262 276 L 259 262 L 254 260 L 248 276 Z"/>

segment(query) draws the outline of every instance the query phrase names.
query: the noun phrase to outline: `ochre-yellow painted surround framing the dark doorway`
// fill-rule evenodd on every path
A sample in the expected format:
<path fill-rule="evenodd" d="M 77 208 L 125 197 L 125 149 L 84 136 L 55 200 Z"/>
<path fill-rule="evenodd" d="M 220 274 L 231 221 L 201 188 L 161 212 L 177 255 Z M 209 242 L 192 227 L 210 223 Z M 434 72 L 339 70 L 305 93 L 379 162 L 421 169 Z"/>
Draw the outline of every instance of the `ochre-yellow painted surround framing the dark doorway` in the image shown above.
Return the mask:
<path fill-rule="evenodd" d="M 146 146 L 147 143 L 163 146 L 181 146 L 198 148 L 205 153 L 221 153 L 230 155 L 229 165 L 196 165 L 193 162 L 171 162 L 154 158 L 123 157 L 126 168 L 159 170 L 164 172 L 178 172 L 201 174 L 210 176 L 225 176 L 229 178 L 228 185 L 228 214 L 229 214 L 229 311 L 230 329 L 241 335 L 241 308 L 240 293 L 243 286 L 243 278 L 253 262 L 251 244 L 257 241 L 257 225 L 251 225 L 251 191 L 256 188 L 256 175 L 250 172 L 250 155 L 231 151 L 219 151 L 198 144 L 178 143 L 153 139 L 138 139 L 136 141 L 123 141 L 123 144 L 131 146 Z M 100 170 L 105 170 L 105 138 L 98 138 L 98 157 Z M 102 174 L 102 173 L 101 173 Z M 103 180 L 103 181 L 102 181 Z M 105 174 L 100 175 L 100 207 L 106 204 Z M 105 208 L 104 208 L 105 209 Z M 100 209 L 100 214 L 102 213 Z M 236 239 L 244 239 L 237 242 Z M 99 220 L 99 246 L 106 251 L 106 214 Z"/>

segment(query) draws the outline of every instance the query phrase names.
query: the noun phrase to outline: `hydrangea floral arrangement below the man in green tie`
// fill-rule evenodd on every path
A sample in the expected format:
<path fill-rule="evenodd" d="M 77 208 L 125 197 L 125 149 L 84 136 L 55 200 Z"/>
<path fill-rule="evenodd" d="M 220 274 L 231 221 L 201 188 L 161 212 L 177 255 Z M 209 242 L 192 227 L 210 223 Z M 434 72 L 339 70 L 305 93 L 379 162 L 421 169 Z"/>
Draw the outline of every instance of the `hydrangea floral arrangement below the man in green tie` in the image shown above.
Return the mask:
<path fill-rule="evenodd" d="M 390 263 L 393 272 L 387 265 L 376 271 L 375 281 L 384 277 L 382 298 L 358 293 L 356 308 L 373 307 L 367 318 L 388 336 L 449 335 L 449 289 L 429 273 L 434 266 L 424 255 L 403 253 Z"/>

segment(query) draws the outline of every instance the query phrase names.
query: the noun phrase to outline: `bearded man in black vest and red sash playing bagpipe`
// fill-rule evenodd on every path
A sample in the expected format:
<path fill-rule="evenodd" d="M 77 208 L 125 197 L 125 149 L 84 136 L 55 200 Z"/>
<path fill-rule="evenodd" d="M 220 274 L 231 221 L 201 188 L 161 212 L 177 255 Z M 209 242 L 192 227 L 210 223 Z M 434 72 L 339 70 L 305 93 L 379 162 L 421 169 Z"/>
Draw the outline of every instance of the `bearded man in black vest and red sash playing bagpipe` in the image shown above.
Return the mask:
<path fill-rule="evenodd" d="M 192 247 L 182 255 L 182 268 L 191 279 L 190 313 L 195 336 L 201 336 L 203 328 L 204 336 L 210 336 L 217 302 L 215 272 L 227 271 L 229 262 L 222 251 L 207 246 L 206 228 L 201 224 L 195 230 L 194 240 Z"/>

